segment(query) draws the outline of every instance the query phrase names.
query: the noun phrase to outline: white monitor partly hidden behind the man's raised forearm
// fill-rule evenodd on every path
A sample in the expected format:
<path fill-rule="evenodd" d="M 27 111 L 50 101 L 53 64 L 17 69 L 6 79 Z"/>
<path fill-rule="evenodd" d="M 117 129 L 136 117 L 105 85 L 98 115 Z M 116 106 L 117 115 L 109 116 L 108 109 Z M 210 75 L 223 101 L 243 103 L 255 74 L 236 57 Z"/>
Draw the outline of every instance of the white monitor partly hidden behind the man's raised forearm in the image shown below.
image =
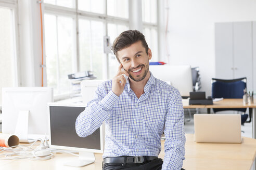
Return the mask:
<path fill-rule="evenodd" d="M 93 100 L 95 91 L 97 90 L 99 84 L 107 80 L 83 80 L 81 84 L 81 94 L 83 98 L 83 103 L 87 104 L 89 101 Z"/>

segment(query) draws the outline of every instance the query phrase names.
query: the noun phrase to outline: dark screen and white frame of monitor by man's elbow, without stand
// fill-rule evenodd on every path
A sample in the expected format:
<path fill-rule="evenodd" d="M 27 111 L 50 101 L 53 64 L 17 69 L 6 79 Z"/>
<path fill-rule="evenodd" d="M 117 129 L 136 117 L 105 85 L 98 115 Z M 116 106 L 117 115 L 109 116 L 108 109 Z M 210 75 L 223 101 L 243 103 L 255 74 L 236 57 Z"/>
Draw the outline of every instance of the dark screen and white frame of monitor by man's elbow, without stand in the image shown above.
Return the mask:
<path fill-rule="evenodd" d="M 79 137 L 75 131 L 75 120 L 85 107 L 81 105 L 50 104 L 49 125 L 50 145 L 57 149 L 80 150 L 103 150 L 100 127 L 87 137 Z M 95 151 L 93 151 L 95 152 Z"/>

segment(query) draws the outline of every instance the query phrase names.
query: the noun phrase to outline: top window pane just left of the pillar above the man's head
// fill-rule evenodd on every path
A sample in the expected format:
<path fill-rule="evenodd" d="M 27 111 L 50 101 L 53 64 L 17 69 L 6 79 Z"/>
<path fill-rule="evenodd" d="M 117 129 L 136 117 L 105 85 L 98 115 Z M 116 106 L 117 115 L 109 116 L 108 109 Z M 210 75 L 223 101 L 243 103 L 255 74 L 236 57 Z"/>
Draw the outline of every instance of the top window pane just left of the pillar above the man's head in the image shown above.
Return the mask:
<path fill-rule="evenodd" d="M 129 2 L 128 0 L 107 0 L 108 16 L 128 18 Z"/>

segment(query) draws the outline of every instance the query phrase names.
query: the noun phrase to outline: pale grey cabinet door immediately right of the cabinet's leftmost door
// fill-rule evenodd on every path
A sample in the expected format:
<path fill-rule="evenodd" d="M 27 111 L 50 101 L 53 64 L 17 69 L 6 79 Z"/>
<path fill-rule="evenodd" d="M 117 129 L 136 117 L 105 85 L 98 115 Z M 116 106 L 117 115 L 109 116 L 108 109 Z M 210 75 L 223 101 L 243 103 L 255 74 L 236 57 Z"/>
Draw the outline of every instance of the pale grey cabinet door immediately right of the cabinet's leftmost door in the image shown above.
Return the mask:
<path fill-rule="evenodd" d="M 252 90 L 252 22 L 235 22 L 234 78 L 247 77 L 247 89 Z"/>

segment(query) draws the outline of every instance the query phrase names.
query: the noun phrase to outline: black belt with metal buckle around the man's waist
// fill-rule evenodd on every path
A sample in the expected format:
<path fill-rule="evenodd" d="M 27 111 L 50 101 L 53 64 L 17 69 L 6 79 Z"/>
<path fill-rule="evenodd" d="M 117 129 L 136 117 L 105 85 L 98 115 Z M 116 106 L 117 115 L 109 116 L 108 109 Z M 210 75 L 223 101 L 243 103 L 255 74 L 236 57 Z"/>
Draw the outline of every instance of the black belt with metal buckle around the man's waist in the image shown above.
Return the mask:
<path fill-rule="evenodd" d="M 152 161 L 158 157 L 151 156 L 140 156 L 140 157 L 108 157 L 104 158 L 103 164 L 105 163 L 143 163 L 146 161 Z"/>

